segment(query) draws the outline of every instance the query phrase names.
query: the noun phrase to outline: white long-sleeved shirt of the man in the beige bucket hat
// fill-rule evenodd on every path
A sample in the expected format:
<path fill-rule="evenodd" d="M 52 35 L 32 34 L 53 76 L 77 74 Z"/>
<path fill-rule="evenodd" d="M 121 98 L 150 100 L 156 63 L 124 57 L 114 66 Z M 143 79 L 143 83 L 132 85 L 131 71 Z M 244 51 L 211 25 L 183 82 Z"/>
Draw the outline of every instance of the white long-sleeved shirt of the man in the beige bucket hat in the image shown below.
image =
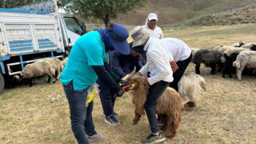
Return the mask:
<path fill-rule="evenodd" d="M 139 72 L 145 76 L 150 71 L 150 78 L 148 78 L 150 85 L 159 81 L 173 82 L 173 71 L 170 67 L 168 50 L 160 39 L 150 37 L 144 50 L 146 50 L 147 62 Z"/>

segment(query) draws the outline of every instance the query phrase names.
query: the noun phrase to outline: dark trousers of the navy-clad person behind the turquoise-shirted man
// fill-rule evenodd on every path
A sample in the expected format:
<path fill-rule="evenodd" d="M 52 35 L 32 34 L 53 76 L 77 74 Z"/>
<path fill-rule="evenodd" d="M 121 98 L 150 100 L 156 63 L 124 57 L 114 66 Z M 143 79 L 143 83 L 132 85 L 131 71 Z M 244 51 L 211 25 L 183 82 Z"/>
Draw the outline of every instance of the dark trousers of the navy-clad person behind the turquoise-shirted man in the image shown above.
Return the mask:
<path fill-rule="evenodd" d="M 100 90 L 99 97 L 102 102 L 103 112 L 106 116 L 109 116 L 114 113 L 114 90 L 102 82 L 100 78 L 98 78 L 97 83 Z"/>

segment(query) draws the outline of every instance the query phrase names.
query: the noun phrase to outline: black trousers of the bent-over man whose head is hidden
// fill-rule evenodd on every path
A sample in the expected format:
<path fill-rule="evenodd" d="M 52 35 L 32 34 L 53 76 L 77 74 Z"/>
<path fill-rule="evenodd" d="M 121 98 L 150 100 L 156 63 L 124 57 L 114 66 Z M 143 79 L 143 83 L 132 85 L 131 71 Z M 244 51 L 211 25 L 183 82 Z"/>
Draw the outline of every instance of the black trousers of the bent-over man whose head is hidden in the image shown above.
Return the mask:
<path fill-rule="evenodd" d="M 192 53 L 190 54 L 189 58 L 186 58 L 184 61 L 178 61 L 176 62 L 178 65 L 178 70 L 175 71 L 173 77 L 174 81 L 170 82 L 170 87 L 174 88 L 174 90 L 178 91 L 178 82 L 182 78 L 182 75 L 184 74 L 186 67 L 189 66 L 190 61 L 192 58 Z"/>

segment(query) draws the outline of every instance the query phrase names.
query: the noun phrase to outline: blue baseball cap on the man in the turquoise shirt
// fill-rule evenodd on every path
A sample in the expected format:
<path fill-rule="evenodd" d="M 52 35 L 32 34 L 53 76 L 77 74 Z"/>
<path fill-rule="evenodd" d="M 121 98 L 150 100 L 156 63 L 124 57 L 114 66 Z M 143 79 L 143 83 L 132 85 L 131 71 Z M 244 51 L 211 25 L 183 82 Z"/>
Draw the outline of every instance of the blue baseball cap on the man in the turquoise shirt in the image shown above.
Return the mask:
<path fill-rule="evenodd" d="M 127 38 L 129 37 L 129 33 L 126 28 L 118 23 L 114 24 L 113 29 L 109 30 L 110 34 L 110 42 L 114 49 L 118 51 L 118 53 L 128 55 L 130 54 L 130 47 L 127 42 Z"/>

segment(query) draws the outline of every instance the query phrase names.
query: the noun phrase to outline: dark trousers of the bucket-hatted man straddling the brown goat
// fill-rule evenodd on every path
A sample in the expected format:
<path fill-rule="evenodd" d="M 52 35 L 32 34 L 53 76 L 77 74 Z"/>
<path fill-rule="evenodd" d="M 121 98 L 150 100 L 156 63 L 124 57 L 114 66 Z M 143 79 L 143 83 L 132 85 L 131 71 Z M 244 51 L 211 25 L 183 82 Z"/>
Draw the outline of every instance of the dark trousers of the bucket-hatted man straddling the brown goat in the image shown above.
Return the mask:
<path fill-rule="evenodd" d="M 170 82 L 165 81 L 156 82 L 150 86 L 147 94 L 144 108 L 146 111 L 146 116 L 150 122 L 150 130 L 152 133 L 157 133 L 159 131 L 158 121 L 155 115 L 155 105 L 158 97 L 166 90 L 166 87 L 169 86 L 169 84 Z"/>

